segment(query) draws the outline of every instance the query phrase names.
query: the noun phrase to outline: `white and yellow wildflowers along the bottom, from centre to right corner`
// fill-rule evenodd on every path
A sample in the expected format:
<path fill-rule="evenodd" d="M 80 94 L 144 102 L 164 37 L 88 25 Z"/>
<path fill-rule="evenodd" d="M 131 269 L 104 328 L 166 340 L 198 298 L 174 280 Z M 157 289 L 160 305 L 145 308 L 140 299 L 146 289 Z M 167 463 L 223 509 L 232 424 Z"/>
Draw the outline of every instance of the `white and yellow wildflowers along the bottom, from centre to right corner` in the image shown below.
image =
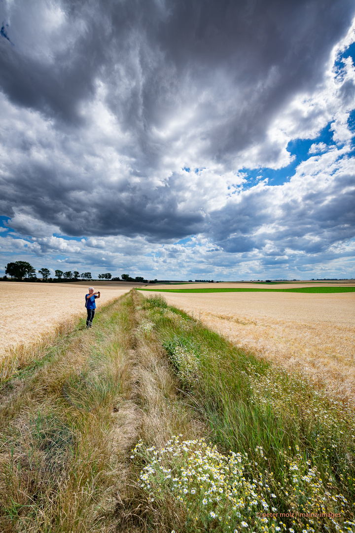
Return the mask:
<path fill-rule="evenodd" d="M 154 446 L 144 449 L 143 442 L 139 441 L 131 459 L 138 456 L 145 463 L 138 483 L 146 492 L 148 502 L 163 506 L 167 495 L 172 496 L 176 504 L 183 507 L 187 520 L 194 524 L 191 531 L 212 528 L 209 523 L 213 521 L 211 530 L 216 532 L 229 533 L 235 529 L 251 533 L 286 532 L 286 524 L 278 523 L 272 515 L 275 513 L 277 516 L 275 505 L 278 501 L 286 499 L 288 505 L 300 513 L 326 515 L 340 510 L 343 513 L 348 504 L 341 494 L 331 494 L 326 490 L 316 467 L 311 467 L 310 461 L 304 462 L 299 453 L 292 458 L 284 457 L 289 474 L 282 486 L 275 482 L 273 473 L 264 470 L 261 465 L 257 476 L 259 480 L 246 479 L 245 468 L 250 470 L 253 467 L 246 454 L 230 451 L 228 455 L 223 455 L 216 447 L 208 446 L 205 439 L 181 441 L 181 436 L 172 437 L 160 450 Z M 255 452 L 267 466 L 263 449 L 258 446 Z M 270 518 L 266 518 L 267 513 Z M 345 533 L 344 529 L 349 533 L 355 531 L 349 527 L 352 522 L 347 522 L 346 526 L 344 523 L 344 529 L 341 529 L 339 521 L 329 519 L 327 523 L 339 533 Z M 293 521 L 291 525 L 292 528 L 288 528 L 290 533 L 303 530 L 315 533 L 328 527 L 316 516 L 313 520 L 304 516 L 303 520 Z M 332 527 L 327 531 L 331 531 Z"/>

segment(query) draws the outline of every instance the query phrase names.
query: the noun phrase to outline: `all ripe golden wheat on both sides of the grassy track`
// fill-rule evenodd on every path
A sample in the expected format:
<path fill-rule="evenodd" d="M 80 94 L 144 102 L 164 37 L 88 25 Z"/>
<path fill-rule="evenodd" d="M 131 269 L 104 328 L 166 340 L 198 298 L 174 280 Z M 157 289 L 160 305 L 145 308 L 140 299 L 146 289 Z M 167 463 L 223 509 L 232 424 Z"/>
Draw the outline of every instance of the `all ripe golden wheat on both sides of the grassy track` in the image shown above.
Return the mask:
<path fill-rule="evenodd" d="M 100 288 L 97 308 L 141 284 L 92 282 Z M 32 344 L 55 326 L 85 317 L 90 282 L 29 284 L 2 282 L 3 317 L 0 354 Z M 324 285 L 333 285 L 327 284 Z M 339 284 L 345 285 L 345 284 Z M 211 287 L 189 284 L 181 288 Z M 223 287 L 265 287 L 223 283 Z M 309 284 L 278 285 L 304 287 Z M 179 286 L 155 285 L 154 288 Z M 213 285 L 216 287 L 216 285 Z M 150 294 L 145 292 L 144 295 Z M 355 398 L 355 294 L 301 293 L 162 293 L 168 303 L 184 309 L 238 346 L 251 349 L 287 368 L 303 369 L 325 380 L 329 391 Z"/>

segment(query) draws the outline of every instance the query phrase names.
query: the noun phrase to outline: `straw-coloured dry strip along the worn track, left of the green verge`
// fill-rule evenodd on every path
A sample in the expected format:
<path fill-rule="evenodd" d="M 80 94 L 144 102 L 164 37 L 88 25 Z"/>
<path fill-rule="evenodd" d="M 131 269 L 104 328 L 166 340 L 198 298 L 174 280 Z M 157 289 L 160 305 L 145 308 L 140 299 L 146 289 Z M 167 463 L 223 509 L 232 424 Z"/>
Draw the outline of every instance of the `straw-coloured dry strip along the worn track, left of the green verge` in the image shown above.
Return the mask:
<path fill-rule="evenodd" d="M 132 394 L 141 413 L 140 426 L 134 443 L 144 443 L 146 448 L 163 447 L 172 435 L 184 438 L 200 438 L 205 433 L 205 424 L 196 417 L 179 391 L 179 381 L 174 375 L 166 352 L 163 349 L 153 323 L 147 320 L 141 294 L 133 293 L 135 309 Z M 117 528 L 118 531 L 166 532 L 174 529 L 177 522 L 184 527 L 185 514 L 177 513 L 176 501 L 166 494 L 163 510 L 151 502 L 137 483 L 141 464 L 126 456 L 125 477 L 118 484 Z"/>

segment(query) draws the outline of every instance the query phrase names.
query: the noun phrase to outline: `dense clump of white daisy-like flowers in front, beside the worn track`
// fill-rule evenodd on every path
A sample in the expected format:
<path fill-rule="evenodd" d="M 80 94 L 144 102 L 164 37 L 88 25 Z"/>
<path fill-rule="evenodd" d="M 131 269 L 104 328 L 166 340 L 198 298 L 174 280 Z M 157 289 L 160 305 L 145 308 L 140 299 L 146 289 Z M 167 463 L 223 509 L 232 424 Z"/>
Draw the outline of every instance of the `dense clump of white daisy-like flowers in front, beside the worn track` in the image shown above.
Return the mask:
<path fill-rule="evenodd" d="M 255 483 L 244 477 L 247 455 L 232 451 L 222 455 L 205 439 L 180 441 L 180 437 L 172 437 L 161 450 L 146 450 L 148 463 L 139 475 L 139 483 L 148 500 L 163 503 L 168 490 L 196 526 L 197 522 L 202 527 L 215 520 L 216 531 L 249 529 L 247 520 L 251 516 L 253 521 L 259 520 L 257 512 L 264 502 Z M 142 446 L 142 441 L 138 442 L 131 458 L 143 454 Z"/>

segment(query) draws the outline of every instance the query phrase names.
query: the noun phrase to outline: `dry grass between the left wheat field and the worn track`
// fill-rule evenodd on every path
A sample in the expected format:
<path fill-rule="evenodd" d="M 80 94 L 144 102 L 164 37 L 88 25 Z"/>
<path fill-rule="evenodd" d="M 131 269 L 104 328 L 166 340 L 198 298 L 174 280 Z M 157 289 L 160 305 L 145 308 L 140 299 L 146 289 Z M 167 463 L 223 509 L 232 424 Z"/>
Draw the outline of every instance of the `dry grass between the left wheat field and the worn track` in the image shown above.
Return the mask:
<path fill-rule="evenodd" d="M 117 478 L 111 447 L 115 402 L 130 375 L 125 301 L 53 344 L 51 357 L 2 389 L 0 527 L 3 531 L 102 531 Z M 22 381 L 22 383 L 20 383 Z"/>

